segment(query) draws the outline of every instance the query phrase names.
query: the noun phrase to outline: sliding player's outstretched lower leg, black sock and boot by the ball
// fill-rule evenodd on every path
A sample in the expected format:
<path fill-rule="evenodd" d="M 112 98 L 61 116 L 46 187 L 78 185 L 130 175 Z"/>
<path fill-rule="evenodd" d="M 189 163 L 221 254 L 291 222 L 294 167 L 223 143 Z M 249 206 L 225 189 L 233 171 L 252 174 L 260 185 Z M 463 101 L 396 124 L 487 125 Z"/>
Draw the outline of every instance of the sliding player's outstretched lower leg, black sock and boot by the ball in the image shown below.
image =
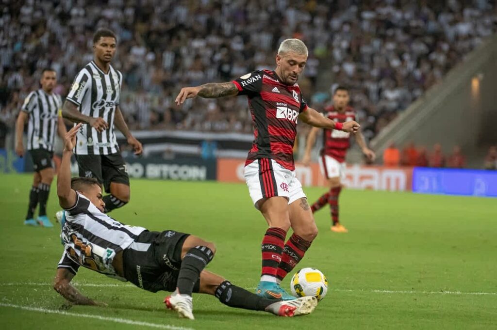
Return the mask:
<path fill-rule="evenodd" d="M 303 297 L 291 301 L 277 301 L 255 295 L 232 284 L 222 276 L 203 270 L 200 274 L 200 293 L 216 296 L 219 301 L 229 307 L 243 308 L 252 311 L 265 311 L 278 316 L 299 316 L 311 313 L 317 305 L 315 297 Z M 314 298 L 314 299 L 313 299 Z"/>

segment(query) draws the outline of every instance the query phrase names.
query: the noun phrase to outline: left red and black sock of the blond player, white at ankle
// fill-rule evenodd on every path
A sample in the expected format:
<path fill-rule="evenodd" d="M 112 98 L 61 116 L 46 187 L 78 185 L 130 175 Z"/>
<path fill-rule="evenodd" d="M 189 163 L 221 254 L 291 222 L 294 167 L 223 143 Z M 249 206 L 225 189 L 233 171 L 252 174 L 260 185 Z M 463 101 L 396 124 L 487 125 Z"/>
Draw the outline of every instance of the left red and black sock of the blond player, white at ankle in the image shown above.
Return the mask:
<path fill-rule="evenodd" d="M 262 272 L 261 281 L 275 282 L 278 266 L 281 262 L 281 253 L 285 245 L 286 231 L 278 227 L 266 230 L 262 239 Z"/>

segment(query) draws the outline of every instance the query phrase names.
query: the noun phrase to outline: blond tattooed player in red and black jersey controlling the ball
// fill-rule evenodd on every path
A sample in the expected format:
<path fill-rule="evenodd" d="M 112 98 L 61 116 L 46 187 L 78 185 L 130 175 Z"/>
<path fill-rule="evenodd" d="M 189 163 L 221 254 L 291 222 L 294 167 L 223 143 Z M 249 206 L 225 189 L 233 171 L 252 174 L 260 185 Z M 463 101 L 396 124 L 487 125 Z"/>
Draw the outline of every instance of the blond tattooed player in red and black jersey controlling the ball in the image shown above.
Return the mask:
<path fill-rule="evenodd" d="M 318 235 L 306 195 L 295 177 L 297 121 L 344 132 L 359 129 L 354 121 L 335 123 L 307 106 L 297 84 L 307 55 L 301 40 L 286 39 L 278 49 L 274 70 L 253 71 L 231 82 L 182 88 L 176 97 L 178 105 L 195 96 L 248 97 L 254 141 L 244 175 L 253 204 L 269 225 L 262 239 L 262 275 L 256 289 L 258 295 L 268 299 L 293 299 L 279 284 Z M 293 235 L 285 244 L 290 227 Z"/>

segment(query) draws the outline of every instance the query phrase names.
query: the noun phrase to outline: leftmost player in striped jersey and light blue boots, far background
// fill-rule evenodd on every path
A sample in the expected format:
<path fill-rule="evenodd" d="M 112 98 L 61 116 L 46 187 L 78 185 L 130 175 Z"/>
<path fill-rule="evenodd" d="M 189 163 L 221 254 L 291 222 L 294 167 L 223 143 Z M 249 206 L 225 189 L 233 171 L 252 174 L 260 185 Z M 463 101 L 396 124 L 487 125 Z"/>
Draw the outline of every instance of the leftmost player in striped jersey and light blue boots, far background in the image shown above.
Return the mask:
<path fill-rule="evenodd" d="M 53 92 L 57 84 L 57 73 L 46 68 L 41 73 L 41 88 L 29 93 L 22 105 L 15 126 L 17 143 L 15 152 L 18 156 L 24 155 L 22 134 L 24 124 L 28 122 L 27 150 L 33 158 L 33 187 L 29 193 L 29 206 L 24 224 L 44 227 L 53 227 L 47 218 L 47 200 L 50 194 L 50 185 L 55 171 L 52 162 L 54 155 L 55 131 L 64 138 L 66 126 L 60 116 L 62 99 Z M 36 206 L 40 204 L 37 220 L 33 219 Z"/>

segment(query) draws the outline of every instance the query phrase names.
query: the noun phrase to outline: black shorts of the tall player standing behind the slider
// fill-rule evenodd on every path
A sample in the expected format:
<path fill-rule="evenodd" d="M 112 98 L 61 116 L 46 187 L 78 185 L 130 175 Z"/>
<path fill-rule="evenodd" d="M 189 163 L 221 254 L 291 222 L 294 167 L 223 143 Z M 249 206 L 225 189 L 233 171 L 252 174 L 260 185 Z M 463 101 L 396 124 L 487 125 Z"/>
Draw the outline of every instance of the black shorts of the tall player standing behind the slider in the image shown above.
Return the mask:
<path fill-rule="evenodd" d="M 129 186 L 126 163 L 120 153 L 110 155 L 76 155 L 80 177 L 95 178 L 110 193 L 110 183 L 123 183 Z"/>

